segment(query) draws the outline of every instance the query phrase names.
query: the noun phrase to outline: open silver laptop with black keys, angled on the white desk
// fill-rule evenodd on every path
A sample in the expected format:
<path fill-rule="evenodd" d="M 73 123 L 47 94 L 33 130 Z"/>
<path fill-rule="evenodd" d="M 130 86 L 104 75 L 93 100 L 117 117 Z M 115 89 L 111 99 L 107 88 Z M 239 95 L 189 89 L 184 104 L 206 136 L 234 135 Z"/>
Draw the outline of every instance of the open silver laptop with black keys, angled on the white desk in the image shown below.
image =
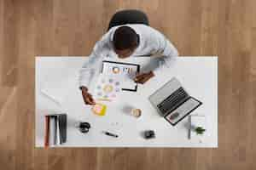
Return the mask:
<path fill-rule="evenodd" d="M 201 101 L 187 93 L 176 77 L 150 95 L 149 101 L 172 126 L 202 105 Z"/>

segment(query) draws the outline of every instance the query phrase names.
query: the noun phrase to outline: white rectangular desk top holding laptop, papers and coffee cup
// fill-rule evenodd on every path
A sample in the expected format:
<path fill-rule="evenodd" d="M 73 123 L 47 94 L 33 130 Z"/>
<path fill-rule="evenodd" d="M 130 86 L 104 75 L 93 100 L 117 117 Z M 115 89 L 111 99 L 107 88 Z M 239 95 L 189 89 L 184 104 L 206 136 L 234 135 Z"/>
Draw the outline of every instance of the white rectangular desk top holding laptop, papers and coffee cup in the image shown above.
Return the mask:
<path fill-rule="evenodd" d="M 154 77 L 145 85 L 139 85 L 137 93 L 122 92 L 119 101 L 108 104 L 106 116 L 96 116 L 90 106 L 84 105 L 79 91 L 78 74 L 85 57 L 37 57 L 36 59 L 36 146 L 44 146 L 44 115 L 52 111 L 67 112 L 67 143 L 61 147 L 218 147 L 218 58 L 178 57 L 171 68 Z M 149 58 L 123 59 L 140 65 L 157 63 Z M 152 67 L 149 65 L 147 68 Z M 62 76 L 61 76 L 62 75 Z M 64 76 L 63 76 L 64 75 Z M 206 116 L 207 133 L 202 143 L 188 139 L 188 117 L 175 127 L 159 116 L 150 105 L 148 96 L 172 77 L 182 82 L 183 87 L 203 102 L 192 114 Z M 66 94 L 62 105 L 40 92 L 47 81 L 60 80 L 60 89 Z M 65 82 L 65 83 L 64 83 Z M 66 83 L 68 82 L 68 83 Z M 129 116 L 127 107 L 143 110 L 140 118 Z M 76 122 L 90 122 L 89 133 L 80 133 Z M 155 139 L 143 139 L 144 130 L 153 129 Z M 102 130 L 119 134 L 115 139 L 102 134 Z"/>

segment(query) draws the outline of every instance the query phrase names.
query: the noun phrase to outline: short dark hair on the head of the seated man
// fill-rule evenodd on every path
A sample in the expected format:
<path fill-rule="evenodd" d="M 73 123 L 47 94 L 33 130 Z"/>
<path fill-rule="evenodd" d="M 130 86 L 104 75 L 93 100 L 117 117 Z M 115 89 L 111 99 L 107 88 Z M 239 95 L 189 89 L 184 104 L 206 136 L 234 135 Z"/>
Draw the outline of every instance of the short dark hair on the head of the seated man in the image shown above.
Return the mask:
<path fill-rule="evenodd" d="M 120 26 L 114 31 L 113 46 L 118 50 L 136 48 L 139 44 L 139 36 L 129 26 Z"/>

